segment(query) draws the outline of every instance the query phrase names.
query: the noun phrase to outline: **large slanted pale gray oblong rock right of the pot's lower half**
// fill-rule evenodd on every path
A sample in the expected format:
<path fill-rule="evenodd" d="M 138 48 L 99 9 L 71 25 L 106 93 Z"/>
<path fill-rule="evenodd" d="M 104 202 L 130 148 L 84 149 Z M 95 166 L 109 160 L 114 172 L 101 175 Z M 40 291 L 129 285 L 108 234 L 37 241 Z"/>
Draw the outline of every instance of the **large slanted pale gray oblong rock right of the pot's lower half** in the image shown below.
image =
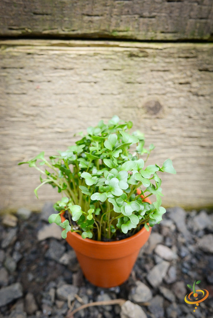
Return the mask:
<path fill-rule="evenodd" d="M 163 261 L 155 265 L 148 273 L 146 278 L 153 287 L 158 287 L 158 285 L 162 282 L 169 265 L 169 262 Z"/>

